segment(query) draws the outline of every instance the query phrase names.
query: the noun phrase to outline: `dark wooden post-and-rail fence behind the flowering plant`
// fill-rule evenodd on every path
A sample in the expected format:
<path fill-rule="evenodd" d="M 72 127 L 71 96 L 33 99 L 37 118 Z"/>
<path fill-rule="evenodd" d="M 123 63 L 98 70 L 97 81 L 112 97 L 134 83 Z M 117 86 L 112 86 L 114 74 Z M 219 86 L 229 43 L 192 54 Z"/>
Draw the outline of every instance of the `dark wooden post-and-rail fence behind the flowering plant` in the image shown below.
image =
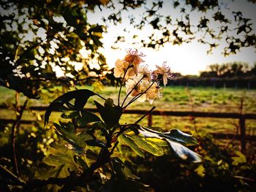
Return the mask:
<path fill-rule="evenodd" d="M 29 110 L 35 111 L 45 111 L 48 106 L 32 106 L 29 107 Z M 7 110 L 8 108 L 4 105 L 0 105 L 0 110 Z M 86 109 L 91 112 L 97 112 L 94 108 Z M 144 115 L 148 112 L 147 110 L 126 110 L 124 113 L 126 114 L 138 114 Z M 241 114 L 237 112 L 194 112 L 194 111 L 162 111 L 155 110 L 148 114 L 148 126 L 152 126 L 152 116 L 153 115 L 165 115 L 165 116 L 176 116 L 176 117 L 192 117 L 192 118 L 232 118 L 239 120 L 239 134 L 221 134 L 214 133 L 212 134 L 217 139 L 238 139 L 241 142 L 241 151 L 243 153 L 246 152 L 246 140 L 256 140 L 256 136 L 246 135 L 246 120 L 256 120 L 256 114 L 246 113 Z M 4 119 L 0 118 L 0 123 L 14 123 L 13 119 Z M 32 124 L 35 123 L 36 120 L 21 120 L 20 123 L 23 124 Z"/>

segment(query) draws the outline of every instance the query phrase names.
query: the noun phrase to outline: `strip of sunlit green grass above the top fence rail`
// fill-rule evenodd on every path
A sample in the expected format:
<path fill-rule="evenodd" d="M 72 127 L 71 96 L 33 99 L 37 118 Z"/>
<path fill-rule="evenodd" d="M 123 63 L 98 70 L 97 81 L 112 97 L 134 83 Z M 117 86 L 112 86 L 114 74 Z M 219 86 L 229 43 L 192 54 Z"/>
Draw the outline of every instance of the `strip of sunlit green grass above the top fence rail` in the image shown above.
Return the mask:
<path fill-rule="evenodd" d="M 82 87 L 93 90 L 92 87 Z M 61 93 L 61 88 L 56 88 L 55 92 Z M 14 102 L 15 91 L 0 87 L 0 104 Z M 105 98 L 112 98 L 117 101 L 118 88 L 105 87 L 100 93 Z M 124 99 L 125 92 L 122 90 L 121 101 Z M 42 95 L 42 99 L 30 99 L 29 105 L 48 104 L 56 96 Z M 189 88 L 167 87 L 164 88 L 164 95 L 151 105 L 147 101 L 140 103 L 136 101 L 129 106 L 129 109 L 150 109 L 153 105 L 157 110 L 194 110 L 205 112 L 239 112 L 241 99 L 244 98 L 244 113 L 256 112 L 256 90 L 242 89 L 213 89 L 213 88 Z M 88 107 L 93 106 L 93 99 L 88 101 Z M 23 100 L 23 99 L 21 99 Z"/>

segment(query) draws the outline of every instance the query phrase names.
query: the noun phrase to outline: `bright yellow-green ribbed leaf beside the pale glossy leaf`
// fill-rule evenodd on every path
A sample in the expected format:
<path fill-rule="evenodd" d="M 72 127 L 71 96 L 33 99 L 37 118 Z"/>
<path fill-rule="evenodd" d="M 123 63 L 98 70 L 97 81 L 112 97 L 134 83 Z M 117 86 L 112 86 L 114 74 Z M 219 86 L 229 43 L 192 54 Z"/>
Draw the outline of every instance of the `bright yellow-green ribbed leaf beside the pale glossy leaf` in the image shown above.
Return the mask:
<path fill-rule="evenodd" d="M 131 138 L 140 148 L 148 151 L 148 153 L 151 153 L 156 156 L 164 155 L 164 151 L 162 150 L 162 147 L 159 147 L 154 142 L 148 142 L 146 139 L 143 139 L 142 137 L 138 137 L 136 135 L 133 135 L 129 138 Z"/>

